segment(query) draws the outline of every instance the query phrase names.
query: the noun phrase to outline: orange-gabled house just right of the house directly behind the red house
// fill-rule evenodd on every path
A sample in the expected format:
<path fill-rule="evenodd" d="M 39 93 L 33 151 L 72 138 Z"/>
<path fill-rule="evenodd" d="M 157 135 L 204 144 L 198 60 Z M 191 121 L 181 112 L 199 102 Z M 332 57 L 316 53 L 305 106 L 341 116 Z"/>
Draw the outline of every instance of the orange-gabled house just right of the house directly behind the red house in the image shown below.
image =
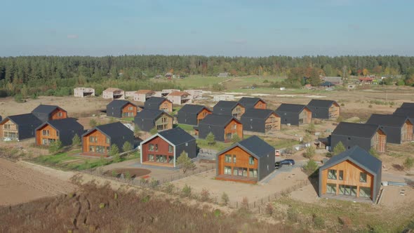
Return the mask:
<path fill-rule="evenodd" d="M 178 124 L 198 126 L 199 122 L 211 113 L 211 110 L 203 105 L 184 105 L 178 110 Z"/>

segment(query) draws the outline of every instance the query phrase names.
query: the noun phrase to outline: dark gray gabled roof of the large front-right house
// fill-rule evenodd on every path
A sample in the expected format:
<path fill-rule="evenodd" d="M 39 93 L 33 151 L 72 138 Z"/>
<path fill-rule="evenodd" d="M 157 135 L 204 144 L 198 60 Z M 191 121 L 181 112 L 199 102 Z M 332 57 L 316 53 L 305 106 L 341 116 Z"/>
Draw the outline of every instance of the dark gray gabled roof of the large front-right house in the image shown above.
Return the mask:
<path fill-rule="evenodd" d="M 319 170 L 325 170 L 346 160 L 352 161 L 354 164 L 368 171 L 368 173 L 372 175 L 377 175 L 381 172 L 382 162 L 380 159 L 373 157 L 373 155 L 369 154 L 357 145 L 330 158 L 319 168 Z"/>

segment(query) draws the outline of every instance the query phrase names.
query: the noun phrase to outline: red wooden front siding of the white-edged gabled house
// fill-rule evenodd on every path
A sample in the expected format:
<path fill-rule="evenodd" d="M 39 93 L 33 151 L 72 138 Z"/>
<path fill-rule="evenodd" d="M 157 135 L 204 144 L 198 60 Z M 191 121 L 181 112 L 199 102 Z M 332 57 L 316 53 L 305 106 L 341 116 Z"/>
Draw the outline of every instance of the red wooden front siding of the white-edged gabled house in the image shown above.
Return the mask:
<path fill-rule="evenodd" d="M 155 151 L 149 151 L 149 144 L 157 145 L 158 149 Z M 142 163 L 148 162 L 152 165 L 159 165 L 159 166 L 174 166 L 173 161 L 170 163 L 170 158 L 174 156 L 174 151 L 169 152 L 169 144 L 159 136 L 152 138 L 152 140 L 149 140 L 148 142 L 145 142 L 145 144 L 142 144 Z M 149 154 L 154 155 L 154 161 L 149 161 Z M 166 163 L 161 163 L 156 161 L 156 155 L 166 155 L 167 161 Z M 174 159 L 174 158 L 173 158 Z"/>

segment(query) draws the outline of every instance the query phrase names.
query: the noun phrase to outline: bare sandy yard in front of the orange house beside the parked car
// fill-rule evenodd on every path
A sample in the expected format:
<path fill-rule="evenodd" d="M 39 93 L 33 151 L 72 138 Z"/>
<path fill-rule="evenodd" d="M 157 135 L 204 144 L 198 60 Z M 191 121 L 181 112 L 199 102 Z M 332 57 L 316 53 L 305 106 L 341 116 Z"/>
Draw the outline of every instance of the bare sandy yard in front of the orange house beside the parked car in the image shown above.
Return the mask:
<path fill-rule="evenodd" d="M 249 202 L 258 201 L 276 192 L 298 185 L 307 179 L 307 175 L 302 173 L 300 168 L 294 168 L 291 172 L 279 173 L 264 185 L 215 180 L 214 177 L 215 170 L 176 180 L 173 184 L 181 188 L 188 185 L 197 193 L 200 193 L 203 188 L 208 189 L 211 197 L 217 197 L 219 201 L 222 193 L 225 192 L 229 195 L 230 202 L 233 203 L 235 201 L 242 201 L 244 197 L 247 197 Z"/>

